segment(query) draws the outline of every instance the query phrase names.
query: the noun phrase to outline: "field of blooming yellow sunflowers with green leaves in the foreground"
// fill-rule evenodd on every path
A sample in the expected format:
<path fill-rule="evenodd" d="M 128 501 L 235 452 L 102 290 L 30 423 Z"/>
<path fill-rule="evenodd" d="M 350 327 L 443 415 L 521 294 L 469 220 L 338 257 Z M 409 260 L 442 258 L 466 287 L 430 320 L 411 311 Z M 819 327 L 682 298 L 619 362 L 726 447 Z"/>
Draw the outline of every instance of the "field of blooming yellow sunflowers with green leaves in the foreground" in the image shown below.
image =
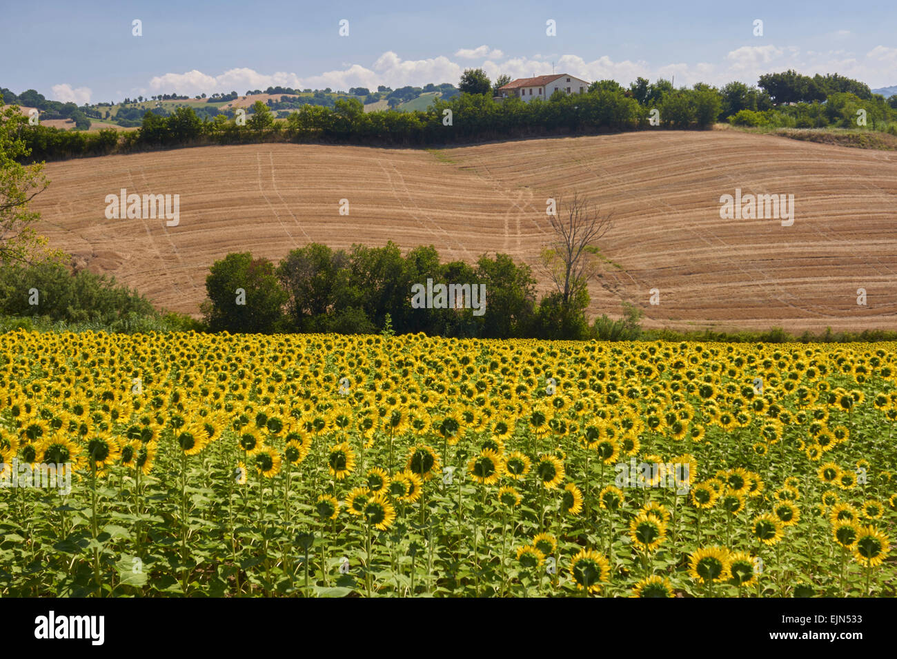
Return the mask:
<path fill-rule="evenodd" d="M 3 334 L 0 594 L 894 596 L 895 349 Z"/>

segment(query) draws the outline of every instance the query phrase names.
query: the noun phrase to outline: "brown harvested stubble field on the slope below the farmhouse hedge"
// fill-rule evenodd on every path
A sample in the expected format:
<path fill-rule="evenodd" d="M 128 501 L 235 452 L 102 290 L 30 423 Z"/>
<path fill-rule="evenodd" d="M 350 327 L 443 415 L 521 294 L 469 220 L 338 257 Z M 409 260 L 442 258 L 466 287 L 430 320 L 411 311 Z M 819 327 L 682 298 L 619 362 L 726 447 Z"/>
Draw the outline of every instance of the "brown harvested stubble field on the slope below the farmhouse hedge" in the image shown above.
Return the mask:
<path fill-rule="evenodd" d="M 152 301 L 196 313 L 228 252 L 278 259 L 309 241 L 432 244 L 446 259 L 506 252 L 534 266 L 545 199 L 614 212 L 613 264 L 592 314 L 629 300 L 647 326 L 861 330 L 897 315 L 897 153 L 737 131 L 640 132 L 441 152 L 253 144 L 49 163 L 35 198 L 53 247 Z M 106 220 L 120 188 L 179 194 L 180 222 Z M 721 220 L 720 195 L 792 194 L 793 226 Z M 338 214 L 339 200 L 350 215 Z M 857 305 L 865 288 L 867 306 Z M 649 305 L 649 290 L 660 305 Z"/>

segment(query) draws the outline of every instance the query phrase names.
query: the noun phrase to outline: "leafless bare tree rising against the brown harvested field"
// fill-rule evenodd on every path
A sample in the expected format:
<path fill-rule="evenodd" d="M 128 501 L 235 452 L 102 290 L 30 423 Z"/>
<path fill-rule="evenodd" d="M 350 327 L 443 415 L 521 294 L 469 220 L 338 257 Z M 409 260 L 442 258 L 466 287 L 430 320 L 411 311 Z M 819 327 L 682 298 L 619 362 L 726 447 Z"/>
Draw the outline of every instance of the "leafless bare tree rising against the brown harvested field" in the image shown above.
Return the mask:
<path fill-rule="evenodd" d="M 554 200 L 556 214 L 548 216 L 554 237 L 542 253 L 542 263 L 566 307 L 597 273 L 597 241 L 614 225 L 613 213 L 600 214 L 596 204 L 576 193 L 567 204 L 558 196 Z"/>

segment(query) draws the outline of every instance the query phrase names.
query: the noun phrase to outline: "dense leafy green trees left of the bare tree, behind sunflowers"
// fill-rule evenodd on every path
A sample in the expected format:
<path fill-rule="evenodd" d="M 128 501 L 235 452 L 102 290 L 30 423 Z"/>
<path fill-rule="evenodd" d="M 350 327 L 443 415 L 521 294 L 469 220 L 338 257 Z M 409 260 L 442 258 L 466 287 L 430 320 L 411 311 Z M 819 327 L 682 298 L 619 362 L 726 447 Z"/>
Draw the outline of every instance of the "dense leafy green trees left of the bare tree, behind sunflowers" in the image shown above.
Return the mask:
<path fill-rule="evenodd" d="M 485 312 L 474 308 L 413 308 L 412 286 L 484 284 Z M 249 253 L 213 264 L 202 310 L 213 332 L 336 332 L 489 338 L 541 335 L 555 319 L 536 305 L 536 282 L 527 265 L 507 255 L 481 256 L 476 264 L 440 264 L 436 249 L 416 247 L 405 256 L 386 247 L 333 250 L 312 243 L 275 265 Z"/>

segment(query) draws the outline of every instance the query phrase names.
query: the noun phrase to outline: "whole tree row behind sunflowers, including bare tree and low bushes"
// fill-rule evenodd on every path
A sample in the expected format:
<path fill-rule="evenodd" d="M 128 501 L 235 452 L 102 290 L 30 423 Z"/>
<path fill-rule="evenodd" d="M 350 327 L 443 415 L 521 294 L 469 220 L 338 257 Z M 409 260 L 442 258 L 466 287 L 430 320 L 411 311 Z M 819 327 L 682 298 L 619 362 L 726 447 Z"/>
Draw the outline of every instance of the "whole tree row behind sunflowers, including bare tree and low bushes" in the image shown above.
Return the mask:
<path fill-rule="evenodd" d="M 604 264 L 598 242 L 611 229 L 612 215 L 578 195 L 568 203 L 555 200 L 557 211 L 547 216 L 553 238 L 541 255 L 553 288 L 538 303 L 529 266 L 508 255 L 443 264 L 432 246 L 402 256 L 392 242 L 349 251 L 312 243 L 277 265 L 248 252 L 213 264 L 205 284 L 205 322 L 213 331 L 231 333 L 364 334 L 383 328 L 457 337 L 634 338 L 640 313 L 633 307 L 620 321 L 602 316 L 593 327 L 586 316 L 588 282 Z M 440 284 L 480 294 L 463 304 L 440 302 L 429 297 Z M 415 285 L 428 290 L 423 307 L 423 299 L 415 304 Z"/>

